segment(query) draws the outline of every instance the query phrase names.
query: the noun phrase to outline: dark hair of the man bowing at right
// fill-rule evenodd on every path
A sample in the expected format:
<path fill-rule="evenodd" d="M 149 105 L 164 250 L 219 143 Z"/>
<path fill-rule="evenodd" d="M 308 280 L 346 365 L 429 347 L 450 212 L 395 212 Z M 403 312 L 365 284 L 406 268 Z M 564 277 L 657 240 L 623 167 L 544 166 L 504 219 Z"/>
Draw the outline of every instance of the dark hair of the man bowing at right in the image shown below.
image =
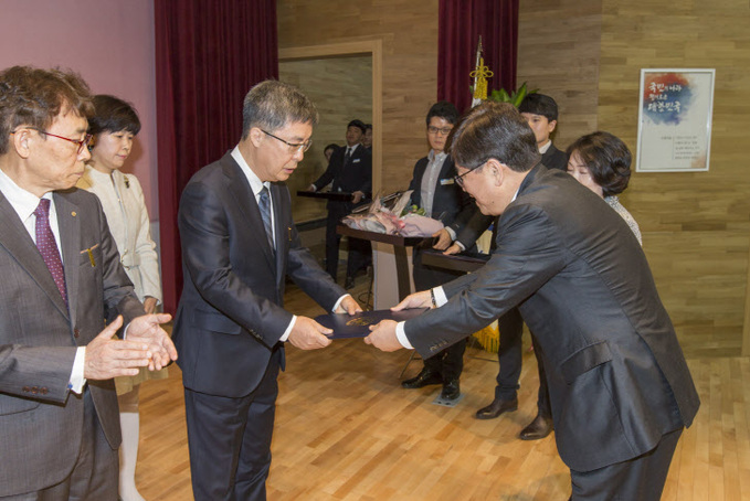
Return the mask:
<path fill-rule="evenodd" d="M 471 109 L 448 139 L 453 160 L 466 169 L 494 158 L 514 171 L 526 172 L 541 160 L 531 127 L 508 103 L 485 102 Z"/>

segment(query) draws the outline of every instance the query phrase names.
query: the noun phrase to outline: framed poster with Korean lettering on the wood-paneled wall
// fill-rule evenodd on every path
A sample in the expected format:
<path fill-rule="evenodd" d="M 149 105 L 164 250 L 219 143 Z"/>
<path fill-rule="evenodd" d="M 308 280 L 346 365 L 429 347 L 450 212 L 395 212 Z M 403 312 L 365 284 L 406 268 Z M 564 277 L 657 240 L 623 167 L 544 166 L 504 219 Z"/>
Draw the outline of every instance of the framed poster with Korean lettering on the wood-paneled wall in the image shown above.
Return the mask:
<path fill-rule="evenodd" d="M 641 70 L 636 172 L 707 171 L 715 70 Z"/>

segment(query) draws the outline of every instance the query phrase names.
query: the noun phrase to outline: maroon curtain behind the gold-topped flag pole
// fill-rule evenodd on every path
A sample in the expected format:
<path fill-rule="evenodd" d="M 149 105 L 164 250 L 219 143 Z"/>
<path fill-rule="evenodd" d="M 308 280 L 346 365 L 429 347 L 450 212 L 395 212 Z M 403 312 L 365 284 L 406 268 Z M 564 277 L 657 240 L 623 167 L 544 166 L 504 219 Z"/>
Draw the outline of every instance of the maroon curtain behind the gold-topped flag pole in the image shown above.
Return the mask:
<path fill-rule="evenodd" d="M 440 0 L 437 30 L 437 99 L 465 111 L 472 104 L 468 74 L 476 63 L 482 35 L 485 65 L 494 73 L 493 89 L 516 88 L 518 0 Z"/>

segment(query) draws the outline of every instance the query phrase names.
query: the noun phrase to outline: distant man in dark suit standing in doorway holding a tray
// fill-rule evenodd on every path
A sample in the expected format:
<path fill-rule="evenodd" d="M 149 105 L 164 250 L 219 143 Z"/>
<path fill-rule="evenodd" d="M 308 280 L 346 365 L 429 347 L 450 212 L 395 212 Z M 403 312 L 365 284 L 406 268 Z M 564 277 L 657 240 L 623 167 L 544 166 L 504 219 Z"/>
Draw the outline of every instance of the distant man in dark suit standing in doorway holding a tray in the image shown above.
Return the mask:
<path fill-rule="evenodd" d="M 361 120 L 351 120 L 347 126 L 347 146 L 331 154 L 328 169 L 309 186 L 319 191 L 331 184 L 330 191 L 351 193 L 349 202 L 329 200 L 326 205 L 326 270 L 336 280 L 338 270 L 338 248 L 341 235 L 336 226 L 341 218 L 363 201 L 372 196 L 372 153 L 361 145 L 366 126 Z M 370 243 L 360 238 L 349 238 L 349 259 L 347 260 L 346 287 L 351 288 L 355 275 L 371 259 Z"/>

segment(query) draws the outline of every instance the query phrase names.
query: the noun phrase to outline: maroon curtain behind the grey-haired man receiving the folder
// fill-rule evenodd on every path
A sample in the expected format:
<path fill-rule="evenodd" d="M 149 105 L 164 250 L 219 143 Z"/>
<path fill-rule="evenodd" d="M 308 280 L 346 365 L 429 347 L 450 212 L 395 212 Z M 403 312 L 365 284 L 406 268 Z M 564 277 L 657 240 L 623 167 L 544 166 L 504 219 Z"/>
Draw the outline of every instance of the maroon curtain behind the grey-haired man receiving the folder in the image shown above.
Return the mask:
<path fill-rule="evenodd" d="M 278 77 L 275 0 L 155 0 L 159 221 L 165 311 L 182 290 L 180 193 L 240 140 L 242 100 Z"/>

